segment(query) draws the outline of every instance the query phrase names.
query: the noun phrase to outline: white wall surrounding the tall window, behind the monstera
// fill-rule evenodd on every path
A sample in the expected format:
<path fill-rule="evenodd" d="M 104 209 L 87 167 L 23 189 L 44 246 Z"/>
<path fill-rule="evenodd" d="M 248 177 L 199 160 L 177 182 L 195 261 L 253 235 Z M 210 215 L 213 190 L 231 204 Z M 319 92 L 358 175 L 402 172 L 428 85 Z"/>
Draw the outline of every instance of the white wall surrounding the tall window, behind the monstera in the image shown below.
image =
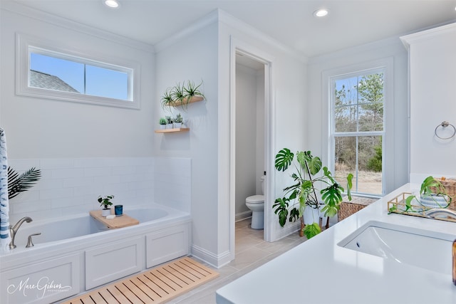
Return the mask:
<path fill-rule="evenodd" d="M 408 93 L 407 52 L 398 37 L 309 59 L 309 94 L 306 103 L 306 148 L 320 155 L 328 165 L 328 84 L 323 74 L 331 70 L 350 70 L 392 58 L 393 100 L 385 105 L 385 157 L 388 175 L 383 181 L 385 193 L 408 182 Z M 353 70 L 352 70 L 353 71 Z M 326 92 L 325 92 L 326 90 Z"/>

